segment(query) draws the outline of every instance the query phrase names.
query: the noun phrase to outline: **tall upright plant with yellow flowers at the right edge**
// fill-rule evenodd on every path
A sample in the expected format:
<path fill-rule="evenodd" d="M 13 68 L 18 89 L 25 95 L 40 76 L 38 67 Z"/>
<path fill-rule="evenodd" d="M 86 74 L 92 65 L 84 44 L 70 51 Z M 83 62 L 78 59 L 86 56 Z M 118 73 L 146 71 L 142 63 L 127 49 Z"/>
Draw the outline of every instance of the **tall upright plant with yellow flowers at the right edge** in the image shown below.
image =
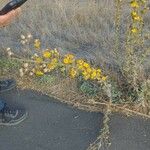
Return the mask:
<path fill-rule="evenodd" d="M 131 23 L 128 30 L 123 73 L 129 86 L 129 98 L 141 102 L 147 101 L 147 96 L 145 97 L 142 93 L 145 90 L 147 93 L 149 91 L 148 87 L 143 89 L 143 85 L 149 80 L 144 71 L 144 60 L 149 55 L 149 48 L 145 48 L 147 41 L 144 33 L 144 15 L 149 8 L 146 0 L 132 0 L 130 8 Z"/>

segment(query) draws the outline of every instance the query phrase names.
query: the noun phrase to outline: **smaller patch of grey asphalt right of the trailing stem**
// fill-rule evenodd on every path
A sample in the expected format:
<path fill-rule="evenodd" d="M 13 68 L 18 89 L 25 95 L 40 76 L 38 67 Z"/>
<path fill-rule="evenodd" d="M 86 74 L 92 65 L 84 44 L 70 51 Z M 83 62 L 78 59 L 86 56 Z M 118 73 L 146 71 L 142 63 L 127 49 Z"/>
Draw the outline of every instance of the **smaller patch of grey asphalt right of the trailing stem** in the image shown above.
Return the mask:
<path fill-rule="evenodd" d="M 150 120 L 114 115 L 110 129 L 110 150 L 150 150 Z"/>

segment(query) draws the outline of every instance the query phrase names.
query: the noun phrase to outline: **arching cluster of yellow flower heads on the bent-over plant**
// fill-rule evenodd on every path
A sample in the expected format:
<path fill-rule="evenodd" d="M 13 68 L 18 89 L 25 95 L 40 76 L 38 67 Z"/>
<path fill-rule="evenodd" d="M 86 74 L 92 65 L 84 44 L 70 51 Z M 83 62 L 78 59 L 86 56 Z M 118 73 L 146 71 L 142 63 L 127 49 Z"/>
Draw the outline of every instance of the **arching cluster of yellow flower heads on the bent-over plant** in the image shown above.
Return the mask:
<path fill-rule="evenodd" d="M 31 65 L 25 65 L 26 72 L 29 75 L 43 76 L 54 69 L 60 69 L 66 72 L 71 78 L 82 76 L 85 80 L 105 81 L 107 76 L 102 75 L 101 69 L 93 68 L 83 59 L 76 59 L 73 54 L 66 54 L 60 57 L 57 49 L 46 49 L 40 52 L 41 42 L 39 39 L 34 40 L 34 47 L 38 49 L 31 57 Z M 21 76 L 24 74 L 24 69 L 21 68 Z"/>

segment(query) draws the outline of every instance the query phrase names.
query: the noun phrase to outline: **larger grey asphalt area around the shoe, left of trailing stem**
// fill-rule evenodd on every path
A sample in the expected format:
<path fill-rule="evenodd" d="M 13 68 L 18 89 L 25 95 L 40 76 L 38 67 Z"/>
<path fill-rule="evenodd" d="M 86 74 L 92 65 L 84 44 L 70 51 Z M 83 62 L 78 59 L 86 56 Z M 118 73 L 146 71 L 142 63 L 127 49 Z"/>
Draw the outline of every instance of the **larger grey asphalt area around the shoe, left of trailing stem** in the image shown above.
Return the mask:
<path fill-rule="evenodd" d="M 0 150 L 86 150 L 99 134 L 103 115 L 71 108 L 31 91 L 1 94 L 23 105 L 29 117 L 20 125 L 0 127 Z"/>

